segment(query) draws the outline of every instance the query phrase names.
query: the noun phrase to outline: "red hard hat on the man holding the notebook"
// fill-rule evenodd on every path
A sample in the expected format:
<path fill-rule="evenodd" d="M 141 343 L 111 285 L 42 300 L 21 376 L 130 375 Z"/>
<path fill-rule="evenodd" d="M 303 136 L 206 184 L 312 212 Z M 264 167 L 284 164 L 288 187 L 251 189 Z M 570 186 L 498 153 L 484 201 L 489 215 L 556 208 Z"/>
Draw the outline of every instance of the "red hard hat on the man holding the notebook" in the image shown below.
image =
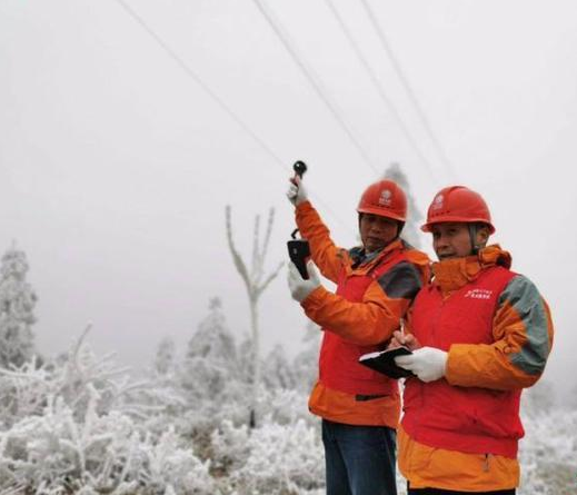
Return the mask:
<path fill-rule="evenodd" d="M 420 229 L 430 232 L 434 224 L 444 221 L 483 222 L 487 224 L 491 234 L 495 232 L 485 199 L 464 186 L 450 186 L 437 192 L 427 211 L 427 224 Z"/>

